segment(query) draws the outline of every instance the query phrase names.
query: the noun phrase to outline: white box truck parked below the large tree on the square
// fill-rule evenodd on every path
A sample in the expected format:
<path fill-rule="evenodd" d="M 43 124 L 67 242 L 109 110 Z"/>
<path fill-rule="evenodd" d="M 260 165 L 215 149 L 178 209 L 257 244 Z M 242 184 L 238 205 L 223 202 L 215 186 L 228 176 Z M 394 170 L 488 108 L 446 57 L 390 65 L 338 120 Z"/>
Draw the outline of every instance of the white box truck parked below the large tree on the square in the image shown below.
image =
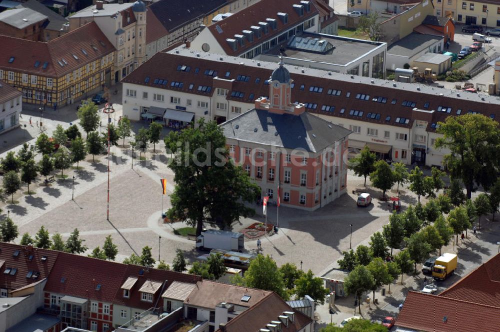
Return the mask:
<path fill-rule="evenodd" d="M 244 249 L 243 234 L 227 230 L 207 229 L 196 237 L 196 248 L 241 251 Z"/>

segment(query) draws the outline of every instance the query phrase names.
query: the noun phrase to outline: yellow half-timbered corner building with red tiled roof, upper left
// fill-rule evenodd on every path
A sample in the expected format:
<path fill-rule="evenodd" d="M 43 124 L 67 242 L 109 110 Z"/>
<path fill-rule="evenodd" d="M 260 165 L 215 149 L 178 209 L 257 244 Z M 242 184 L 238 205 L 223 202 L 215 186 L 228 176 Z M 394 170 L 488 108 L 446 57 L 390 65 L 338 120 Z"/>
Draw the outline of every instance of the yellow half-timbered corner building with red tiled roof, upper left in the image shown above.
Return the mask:
<path fill-rule="evenodd" d="M 22 102 L 55 109 L 110 85 L 115 48 L 95 22 L 47 42 L 0 35 L 0 44 L 0 79 Z"/>

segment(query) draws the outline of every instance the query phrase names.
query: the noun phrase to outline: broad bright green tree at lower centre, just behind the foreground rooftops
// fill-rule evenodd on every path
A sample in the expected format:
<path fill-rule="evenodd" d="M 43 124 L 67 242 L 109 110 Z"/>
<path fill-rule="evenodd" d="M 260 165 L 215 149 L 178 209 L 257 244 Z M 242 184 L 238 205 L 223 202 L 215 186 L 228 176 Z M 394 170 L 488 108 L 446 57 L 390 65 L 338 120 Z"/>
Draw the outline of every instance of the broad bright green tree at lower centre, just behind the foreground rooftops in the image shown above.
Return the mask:
<path fill-rule="evenodd" d="M 251 260 L 244 274 L 244 279 L 248 287 L 272 290 L 282 299 L 288 299 L 283 276 L 279 272 L 276 262 L 269 255 L 258 254 L 255 259 Z"/>

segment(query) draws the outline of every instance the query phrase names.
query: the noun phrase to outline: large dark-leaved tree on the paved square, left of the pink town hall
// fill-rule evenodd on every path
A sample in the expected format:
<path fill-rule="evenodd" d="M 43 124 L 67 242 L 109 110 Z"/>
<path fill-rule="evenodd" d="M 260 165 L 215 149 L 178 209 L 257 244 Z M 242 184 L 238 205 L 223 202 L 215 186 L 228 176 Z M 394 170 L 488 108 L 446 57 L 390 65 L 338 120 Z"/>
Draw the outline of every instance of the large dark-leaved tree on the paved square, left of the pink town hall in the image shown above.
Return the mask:
<path fill-rule="evenodd" d="M 225 137 L 215 121 L 201 118 L 196 128 L 170 131 L 164 141 L 167 149 L 176 151 L 168 165 L 175 173 L 168 218 L 186 220 L 199 235 L 204 222 L 223 227 L 254 214 L 246 203 L 255 201 L 260 188 L 240 166 L 226 162 Z M 198 148 L 206 152 L 194 155 Z"/>

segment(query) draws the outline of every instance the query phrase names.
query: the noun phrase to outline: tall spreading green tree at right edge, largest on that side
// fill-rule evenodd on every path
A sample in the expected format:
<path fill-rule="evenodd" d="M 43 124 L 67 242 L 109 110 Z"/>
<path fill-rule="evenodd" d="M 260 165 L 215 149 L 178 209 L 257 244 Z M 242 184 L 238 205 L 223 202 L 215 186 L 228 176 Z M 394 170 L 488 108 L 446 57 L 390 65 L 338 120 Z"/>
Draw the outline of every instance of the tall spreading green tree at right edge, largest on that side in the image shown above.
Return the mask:
<path fill-rule="evenodd" d="M 443 157 L 452 178 L 461 179 L 466 198 L 470 198 L 474 185 L 488 188 L 496 180 L 498 122 L 482 114 L 448 116 L 438 122 L 437 132 L 443 134 L 435 140 L 437 149 L 446 148 Z M 458 204 L 457 204 L 458 205 Z"/>

